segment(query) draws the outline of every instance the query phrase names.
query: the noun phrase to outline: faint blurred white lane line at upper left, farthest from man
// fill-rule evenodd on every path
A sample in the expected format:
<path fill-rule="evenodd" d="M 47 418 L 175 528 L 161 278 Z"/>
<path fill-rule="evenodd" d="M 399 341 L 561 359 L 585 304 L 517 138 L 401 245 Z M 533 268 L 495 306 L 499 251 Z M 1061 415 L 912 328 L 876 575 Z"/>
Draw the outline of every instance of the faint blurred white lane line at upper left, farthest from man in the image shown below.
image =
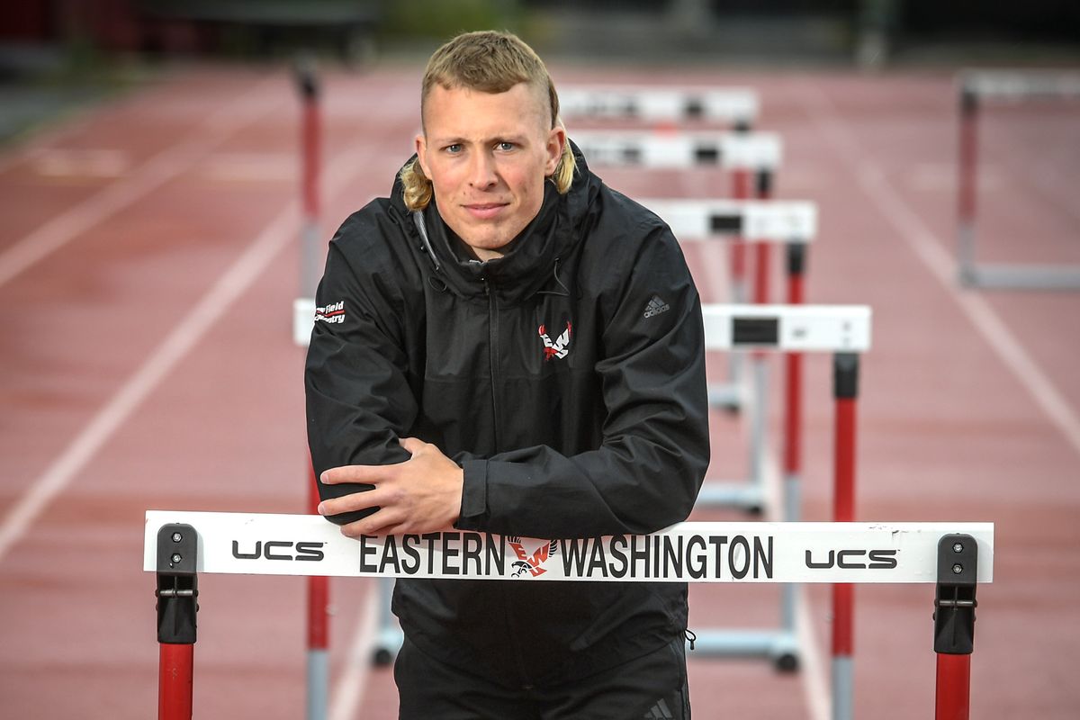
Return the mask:
<path fill-rule="evenodd" d="M 255 85 L 212 113 L 181 141 L 159 152 L 131 174 L 110 182 L 9 246 L 0 253 L 0 285 L 188 169 L 247 123 L 266 117 L 269 108 L 260 96 L 266 94 L 268 87 L 280 83 L 280 79 L 274 78 Z M 278 104 L 284 97 L 270 99 Z"/>

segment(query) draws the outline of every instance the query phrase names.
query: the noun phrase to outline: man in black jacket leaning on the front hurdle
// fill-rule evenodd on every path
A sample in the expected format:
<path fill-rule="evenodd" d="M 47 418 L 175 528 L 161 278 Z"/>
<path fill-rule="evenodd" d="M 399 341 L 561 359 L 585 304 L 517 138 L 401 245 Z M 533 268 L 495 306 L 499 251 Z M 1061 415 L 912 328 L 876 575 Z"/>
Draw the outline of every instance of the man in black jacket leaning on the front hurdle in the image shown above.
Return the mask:
<path fill-rule="evenodd" d="M 416 158 L 338 230 L 319 288 L 320 512 L 350 536 L 684 520 L 707 407 L 670 229 L 571 151 L 512 35 L 436 51 L 421 119 Z M 689 717 L 685 584 L 400 580 L 393 610 L 402 718 Z"/>

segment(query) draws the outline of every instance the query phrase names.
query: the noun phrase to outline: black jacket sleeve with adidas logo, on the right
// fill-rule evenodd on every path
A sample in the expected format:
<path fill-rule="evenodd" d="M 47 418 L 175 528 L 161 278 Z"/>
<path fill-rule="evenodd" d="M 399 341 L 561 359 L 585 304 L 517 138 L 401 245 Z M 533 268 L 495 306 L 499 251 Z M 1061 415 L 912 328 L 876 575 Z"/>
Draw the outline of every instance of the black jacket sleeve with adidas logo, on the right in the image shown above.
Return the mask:
<path fill-rule="evenodd" d="M 465 460 L 460 528 L 581 538 L 653 532 L 689 515 L 708 465 L 701 301 L 666 226 L 622 274 L 599 302 L 609 318 L 595 366 L 607 411 L 600 447 Z"/>

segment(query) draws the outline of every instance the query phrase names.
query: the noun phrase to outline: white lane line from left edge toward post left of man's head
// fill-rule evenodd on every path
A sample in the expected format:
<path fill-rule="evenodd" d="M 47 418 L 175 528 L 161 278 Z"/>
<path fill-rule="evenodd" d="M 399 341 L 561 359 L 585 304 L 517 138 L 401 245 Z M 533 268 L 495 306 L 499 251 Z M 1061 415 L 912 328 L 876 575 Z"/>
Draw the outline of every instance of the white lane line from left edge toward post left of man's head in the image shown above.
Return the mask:
<path fill-rule="evenodd" d="M 326 174 L 330 195 L 360 176 L 370 164 L 378 148 L 357 142 L 340 153 Z M 161 383 L 168 372 L 191 352 L 194 344 L 221 318 L 231 303 L 286 246 L 295 242 L 300 227 L 297 201 L 289 202 L 230 267 L 199 303 L 153 351 L 149 358 L 120 388 L 76 438 L 60 452 L 45 472 L 36 478 L 0 522 L 0 561 L 29 529 L 41 512 L 71 483 L 113 433 Z"/>

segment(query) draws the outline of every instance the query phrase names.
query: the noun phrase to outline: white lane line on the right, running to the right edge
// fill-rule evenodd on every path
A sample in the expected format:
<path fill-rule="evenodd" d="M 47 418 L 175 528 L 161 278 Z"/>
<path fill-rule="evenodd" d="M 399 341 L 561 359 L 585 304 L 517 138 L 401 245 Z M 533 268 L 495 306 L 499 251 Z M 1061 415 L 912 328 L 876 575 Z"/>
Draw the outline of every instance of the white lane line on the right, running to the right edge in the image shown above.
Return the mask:
<path fill-rule="evenodd" d="M 797 94 L 806 105 L 807 114 L 818 131 L 833 145 L 859 181 L 859 187 L 873 201 L 893 230 L 908 244 L 916 257 L 946 289 L 987 344 L 997 353 L 1036 405 L 1080 454 L 1080 418 L 1068 400 L 1024 350 L 1016 336 L 1001 321 L 986 299 L 973 290 L 956 286 L 955 263 L 942 243 L 919 216 L 904 202 L 859 146 L 851 128 L 832 107 L 828 98 L 815 86 L 799 84 Z"/>

